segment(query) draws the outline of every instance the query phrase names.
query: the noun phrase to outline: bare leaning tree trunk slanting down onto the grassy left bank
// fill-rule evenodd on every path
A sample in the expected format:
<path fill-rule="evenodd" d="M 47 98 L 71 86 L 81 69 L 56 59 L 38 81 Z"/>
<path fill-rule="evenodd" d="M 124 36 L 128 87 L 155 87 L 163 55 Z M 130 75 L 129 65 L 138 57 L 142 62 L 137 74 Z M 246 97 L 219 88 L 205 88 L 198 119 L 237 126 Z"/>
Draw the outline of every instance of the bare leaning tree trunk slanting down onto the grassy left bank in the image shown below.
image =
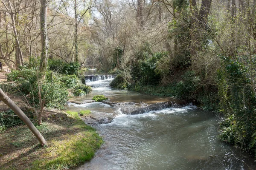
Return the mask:
<path fill-rule="evenodd" d="M 33 125 L 33 123 L 29 120 L 29 118 L 20 110 L 20 108 L 15 105 L 15 103 L 2 91 L 0 88 L 0 100 L 2 100 L 12 111 L 19 116 L 19 118 L 29 127 L 29 129 L 34 133 L 35 137 L 41 143 L 42 146 L 47 145 L 44 136 L 38 131 L 38 129 Z"/>

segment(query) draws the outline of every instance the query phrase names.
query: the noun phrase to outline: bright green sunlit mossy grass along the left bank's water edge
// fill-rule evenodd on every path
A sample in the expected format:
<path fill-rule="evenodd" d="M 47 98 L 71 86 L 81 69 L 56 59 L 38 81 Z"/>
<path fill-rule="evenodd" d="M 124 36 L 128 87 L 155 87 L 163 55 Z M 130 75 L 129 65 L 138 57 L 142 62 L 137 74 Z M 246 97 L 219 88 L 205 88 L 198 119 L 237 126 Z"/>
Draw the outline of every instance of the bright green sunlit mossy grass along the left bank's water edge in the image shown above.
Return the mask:
<path fill-rule="evenodd" d="M 33 169 L 69 169 L 93 158 L 95 151 L 102 144 L 102 139 L 81 119 L 74 127 L 81 128 L 81 132 L 69 135 L 64 141 L 52 141 L 52 145 L 46 149 L 46 157 L 54 156 L 53 159 L 36 160 L 33 162 Z"/>

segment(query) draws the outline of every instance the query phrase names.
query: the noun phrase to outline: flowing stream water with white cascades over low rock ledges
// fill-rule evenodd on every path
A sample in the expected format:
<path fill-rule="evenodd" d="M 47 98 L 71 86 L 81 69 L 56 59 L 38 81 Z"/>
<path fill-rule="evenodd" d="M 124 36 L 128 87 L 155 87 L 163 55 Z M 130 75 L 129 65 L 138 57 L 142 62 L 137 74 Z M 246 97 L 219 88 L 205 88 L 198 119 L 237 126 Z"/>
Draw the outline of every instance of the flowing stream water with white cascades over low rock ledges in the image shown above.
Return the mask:
<path fill-rule="evenodd" d="M 88 82 L 93 94 L 113 102 L 147 104 L 169 98 L 118 91 L 108 87 L 112 79 Z M 97 125 L 105 143 L 94 158 L 78 170 L 254 170 L 256 162 L 235 147 L 217 139 L 221 118 L 193 105 L 138 115 L 124 115 L 101 102 L 70 105 L 69 110 L 116 113 L 113 122 Z M 244 161 L 244 163 L 243 163 Z"/>

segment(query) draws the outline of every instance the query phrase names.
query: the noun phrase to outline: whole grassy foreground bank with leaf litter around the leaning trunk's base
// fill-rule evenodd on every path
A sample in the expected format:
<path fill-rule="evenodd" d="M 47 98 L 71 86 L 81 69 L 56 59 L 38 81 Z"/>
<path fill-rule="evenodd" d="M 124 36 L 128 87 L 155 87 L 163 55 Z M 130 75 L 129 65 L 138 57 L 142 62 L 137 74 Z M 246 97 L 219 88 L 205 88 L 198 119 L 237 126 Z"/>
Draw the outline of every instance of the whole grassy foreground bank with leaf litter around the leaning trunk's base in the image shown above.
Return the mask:
<path fill-rule="evenodd" d="M 48 147 L 40 147 L 25 125 L 0 134 L 0 170 L 64 170 L 94 156 L 102 138 L 84 124 L 77 112 L 46 115 L 44 123 L 37 128 Z"/>

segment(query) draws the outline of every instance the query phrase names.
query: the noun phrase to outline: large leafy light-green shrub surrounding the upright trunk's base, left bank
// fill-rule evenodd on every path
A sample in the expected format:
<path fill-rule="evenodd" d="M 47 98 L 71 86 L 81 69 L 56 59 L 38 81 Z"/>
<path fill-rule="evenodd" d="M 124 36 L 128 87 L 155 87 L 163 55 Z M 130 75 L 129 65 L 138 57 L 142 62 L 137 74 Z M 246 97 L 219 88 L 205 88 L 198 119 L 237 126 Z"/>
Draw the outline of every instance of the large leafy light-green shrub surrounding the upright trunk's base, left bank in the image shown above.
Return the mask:
<path fill-rule="evenodd" d="M 17 82 L 17 88 L 27 96 L 32 104 L 36 106 L 40 104 L 38 91 L 41 89 L 41 96 L 46 107 L 63 109 L 68 99 L 67 86 L 69 85 L 65 83 L 74 82 L 76 78 L 71 76 L 59 79 L 59 75 L 47 71 L 44 82 L 38 83 L 39 74 L 41 73 L 35 69 L 23 68 L 20 71 L 12 71 L 7 78 Z"/>

